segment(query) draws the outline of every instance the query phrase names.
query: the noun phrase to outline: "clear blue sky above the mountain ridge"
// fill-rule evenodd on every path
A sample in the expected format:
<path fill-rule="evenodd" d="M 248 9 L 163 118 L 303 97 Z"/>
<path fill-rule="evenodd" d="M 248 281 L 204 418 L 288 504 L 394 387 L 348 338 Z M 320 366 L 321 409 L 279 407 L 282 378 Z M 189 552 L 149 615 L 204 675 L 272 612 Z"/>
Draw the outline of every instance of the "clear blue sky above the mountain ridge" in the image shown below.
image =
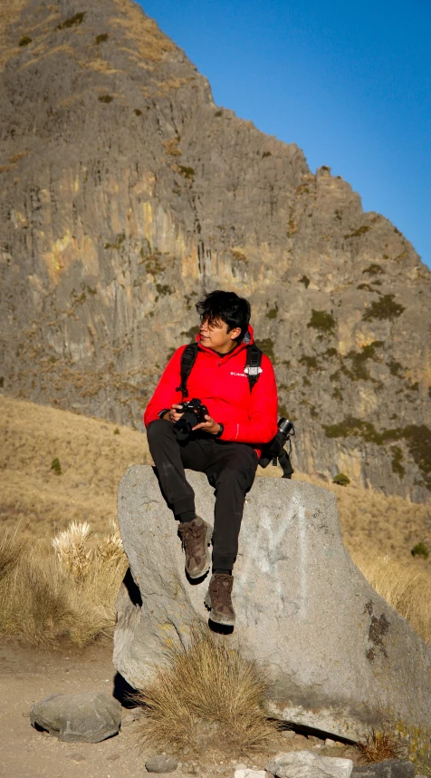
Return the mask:
<path fill-rule="evenodd" d="M 329 165 L 431 267 L 430 0 L 142 0 L 217 104 Z"/>

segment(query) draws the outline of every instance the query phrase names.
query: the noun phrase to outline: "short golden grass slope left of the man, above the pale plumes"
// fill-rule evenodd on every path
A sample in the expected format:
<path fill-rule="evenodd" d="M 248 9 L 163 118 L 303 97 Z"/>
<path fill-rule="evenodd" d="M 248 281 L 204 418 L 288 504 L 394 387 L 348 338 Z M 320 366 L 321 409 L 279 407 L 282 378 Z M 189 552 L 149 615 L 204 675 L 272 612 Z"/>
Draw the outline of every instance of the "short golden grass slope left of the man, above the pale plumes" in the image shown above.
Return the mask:
<path fill-rule="evenodd" d="M 0 529 L 51 540 L 72 521 L 106 532 L 121 476 L 150 462 L 147 437 L 128 427 L 0 395 Z M 62 475 L 51 470 L 58 457 Z"/>

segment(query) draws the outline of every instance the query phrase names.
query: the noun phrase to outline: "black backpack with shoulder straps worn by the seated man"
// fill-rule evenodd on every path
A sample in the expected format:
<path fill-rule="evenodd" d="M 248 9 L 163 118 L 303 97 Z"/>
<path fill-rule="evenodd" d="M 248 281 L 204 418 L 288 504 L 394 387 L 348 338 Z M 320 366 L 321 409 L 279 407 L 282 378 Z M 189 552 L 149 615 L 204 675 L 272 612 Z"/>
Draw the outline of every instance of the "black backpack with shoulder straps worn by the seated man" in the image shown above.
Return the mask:
<path fill-rule="evenodd" d="M 196 356 L 197 356 L 197 343 L 190 343 L 186 346 L 184 349 L 182 355 L 181 355 L 181 365 L 180 365 L 180 377 L 181 377 L 181 383 L 179 386 L 177 386 L 177 392 L 181 392 L 181 399 L 184 400 L 185 397 L 187 397 L 187 380 L 188 376 L 192 372 L 193 365 L 195 365 L 196 362 Z M 245 365 L 244 365 L 244 373 L 247 375 L 248 378 L 248 384 L 250 386 L 250 392 L 253 391 L 254 384 L 259 379 L 259 375 L 262 373 L 262 351 L 261 349 L 254 344 L 247 345 L 246 346 L 246 358 L 245 358 Z M 277 460 L 280 462 L 280 465 L 283 469 L 283 478 L 292 478 L 293 468 L 291 464 L 290 454 L 292 452 L 292 441 L 290 438 L 289 433 L 284 433 L 283 430 L 280 429 L 280 422 L 279 421 L 279 430 L 274 435 L 273 440 L 264 443 L 262 447 L 261 457 L 259 460 L 259 464 L 261 467 L 265 468 L 268 467 L 270 462 L 273 462 L 273 465 L 277 465 Z M 285 420 L 283 420 L 285 421 Z M 292 424 L 292 434 L 294 435 L 294 427 Z M 289 441 L 289 452 L 286 452 L 284 448 L 284 444 Z"/>

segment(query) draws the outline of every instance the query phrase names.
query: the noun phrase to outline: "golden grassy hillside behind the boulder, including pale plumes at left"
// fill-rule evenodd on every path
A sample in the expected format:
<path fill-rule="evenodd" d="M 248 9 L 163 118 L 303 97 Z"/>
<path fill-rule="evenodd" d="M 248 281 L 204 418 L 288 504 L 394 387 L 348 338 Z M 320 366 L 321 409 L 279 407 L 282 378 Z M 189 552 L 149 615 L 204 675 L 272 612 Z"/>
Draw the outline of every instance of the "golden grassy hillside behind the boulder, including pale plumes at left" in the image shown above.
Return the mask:
<path fill-rule="evenodd" d="M 151 463 L 147 438 L 1 395 L 0 418 L 2 632 L 48 645 L 61 637 L 86 645 L 115 623 L 127 567 L 112 534 L 117 489 L 130 464 Z M 270 466 L 258 475 L 280 477 L 281 471 Z M 343 539 L 359 569 L 431 641 L 431 559 L 411 555 L 417 543 L 429 545 L 429 504 L 302 473 L 294 478 L 336 493 Z"/>

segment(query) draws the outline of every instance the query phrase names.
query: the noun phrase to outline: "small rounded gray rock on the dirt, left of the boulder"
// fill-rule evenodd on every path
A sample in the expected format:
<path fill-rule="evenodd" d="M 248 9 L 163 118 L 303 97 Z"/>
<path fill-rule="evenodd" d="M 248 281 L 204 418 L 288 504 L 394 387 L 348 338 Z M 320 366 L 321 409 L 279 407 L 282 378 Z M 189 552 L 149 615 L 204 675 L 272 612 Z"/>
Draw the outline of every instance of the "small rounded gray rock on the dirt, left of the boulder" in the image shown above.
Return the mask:
<path fill-rule="evenodd" d="M 99 743 L 118 733 L 121 705 L 101 692 L 52 695 L 34 703 L 30 720 L 67 743 Z"/>

